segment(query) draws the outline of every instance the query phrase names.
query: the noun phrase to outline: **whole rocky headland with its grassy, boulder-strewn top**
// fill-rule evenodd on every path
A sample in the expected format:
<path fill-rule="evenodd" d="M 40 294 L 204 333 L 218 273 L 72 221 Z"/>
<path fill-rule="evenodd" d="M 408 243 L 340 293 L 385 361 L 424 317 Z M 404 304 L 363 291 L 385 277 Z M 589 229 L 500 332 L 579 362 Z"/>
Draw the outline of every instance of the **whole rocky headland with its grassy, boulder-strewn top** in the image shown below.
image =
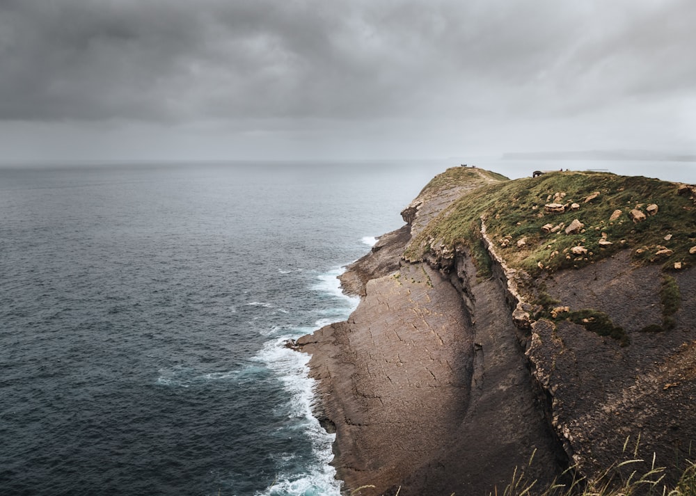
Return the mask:
<path fill-rule="evenodd" d="M 693 191 L 435 177 L 342 275 L 362 296 L 348 321 L 297 342 L 345 487 L 487 494 L 515 468 L 539 486 L 569 467 L 592 479 L 639 436 L 677 477 L 696 440 Z"/>

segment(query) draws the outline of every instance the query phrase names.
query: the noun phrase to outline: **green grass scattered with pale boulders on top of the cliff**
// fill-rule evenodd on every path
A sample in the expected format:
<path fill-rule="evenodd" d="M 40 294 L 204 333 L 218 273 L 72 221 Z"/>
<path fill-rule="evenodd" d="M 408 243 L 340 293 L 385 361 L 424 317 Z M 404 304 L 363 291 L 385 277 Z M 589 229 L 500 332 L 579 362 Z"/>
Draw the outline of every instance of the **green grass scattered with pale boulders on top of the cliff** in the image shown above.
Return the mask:
<path fill-rule="evenodd" d="M 473 178 L 475 171 L 450 169 L 424 191 L 436 193 L 452 180 Z M 551 203 L 563 205 L 564 211 L 546 211 L 544 205 Z M 650 205 L 657 205 L 656 213 L 651 214 Z M 634 222 L 632 210 L 642 212 L 644 220 Z M 610 220 L 612 214 L 618 217 Z M 677 262 L 682 268 L 696 262 L 696 255 L 689 253 L 696 246 L 696 207 L 693 200 L 677 194 L 674 183 L 595 172 L 548 173 L 475 189 L 434 219 L 404 255 L 423 259 L 440 246 L 465 246 L 476 254 L 481 250 L 482 217 L 507 264 L 532 276 L 579 268 L 622 248 L 631 249 L 635 262 L 661 264 L 665 270 L 674 270 Z M 567 234 L 576 219 L 583 227 Z"/>

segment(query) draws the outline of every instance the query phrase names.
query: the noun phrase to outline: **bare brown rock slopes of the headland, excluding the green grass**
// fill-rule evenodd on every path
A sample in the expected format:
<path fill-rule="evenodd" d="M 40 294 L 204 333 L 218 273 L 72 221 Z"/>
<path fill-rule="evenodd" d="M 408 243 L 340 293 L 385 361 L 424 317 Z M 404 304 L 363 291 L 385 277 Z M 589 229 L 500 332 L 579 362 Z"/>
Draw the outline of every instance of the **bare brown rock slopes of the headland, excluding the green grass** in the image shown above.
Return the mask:
<path fill-rule="evenodd" d="M 631 346 L 570 321 L 535 320 L 484 223 L 491 277 L 466 247 L 404 259 L 452 202 L 496 180 L 479 171 L 465 179 L 424 189 L 402 212 L 406 225 L 341 276 L 361 296 L 349 319 L 296 342 L 312 355 L 316 415 L 337 434 L 333 465 L 345 487 L 487 494 L 516 468 L 544 486 L 571 465 L 592 477 L 638 434 L 645 449 L 674 458 L 677 442 L 686 453 L 696 439 L 693 271 L 677 278 L 682 304 L 669 333 L 638 332 L 659 321 L 659 269 L 633 266 L 625 253 L 543 281 L 564 305 L 611 314 Z"/>

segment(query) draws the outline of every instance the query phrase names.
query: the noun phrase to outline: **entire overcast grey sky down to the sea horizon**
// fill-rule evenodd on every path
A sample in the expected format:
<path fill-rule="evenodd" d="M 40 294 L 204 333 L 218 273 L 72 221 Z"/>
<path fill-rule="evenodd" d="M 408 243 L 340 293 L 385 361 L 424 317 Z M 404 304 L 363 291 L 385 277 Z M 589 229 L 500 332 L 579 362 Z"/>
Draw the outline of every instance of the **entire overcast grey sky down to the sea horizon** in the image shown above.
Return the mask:
<path fill-rule="evenodd" d="M 694 0 L 0 0 L 0 160 L 696 154 Z"/>

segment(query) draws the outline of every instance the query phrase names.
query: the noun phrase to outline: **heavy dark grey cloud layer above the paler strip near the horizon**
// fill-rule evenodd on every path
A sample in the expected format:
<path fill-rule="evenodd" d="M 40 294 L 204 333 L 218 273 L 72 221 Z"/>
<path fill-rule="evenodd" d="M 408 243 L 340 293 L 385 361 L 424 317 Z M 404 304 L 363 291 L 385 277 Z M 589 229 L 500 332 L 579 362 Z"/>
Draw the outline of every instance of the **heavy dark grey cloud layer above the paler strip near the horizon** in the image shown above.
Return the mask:
<path fill-rule="evenodd" d="M 3 0 L 0 121 L 679 126 L 694 25 L 691 0 Z"/>

